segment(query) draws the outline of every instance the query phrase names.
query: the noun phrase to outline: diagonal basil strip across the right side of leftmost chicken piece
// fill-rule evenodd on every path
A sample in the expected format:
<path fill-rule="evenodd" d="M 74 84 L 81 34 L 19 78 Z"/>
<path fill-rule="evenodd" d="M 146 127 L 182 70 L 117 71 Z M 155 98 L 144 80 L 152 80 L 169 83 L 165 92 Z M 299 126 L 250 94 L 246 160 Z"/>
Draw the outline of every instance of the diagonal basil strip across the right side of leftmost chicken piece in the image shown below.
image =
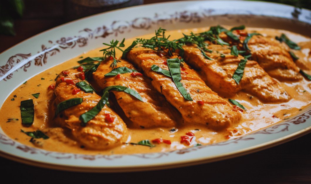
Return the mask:
<path fill-rule="evenodd" d="M 86 123 L 93 119 L 98 113 L 100 113 L 101 109 L 104 108 L 105 104 L 107 104 L 109 99 L 109 92 L 105 91 L 100 101 L 93 107 L 91 110 L 87 111 L 84 114 L 81 114 L 79 119 L 81 120 L 80 125 L 85 127 Z"/>

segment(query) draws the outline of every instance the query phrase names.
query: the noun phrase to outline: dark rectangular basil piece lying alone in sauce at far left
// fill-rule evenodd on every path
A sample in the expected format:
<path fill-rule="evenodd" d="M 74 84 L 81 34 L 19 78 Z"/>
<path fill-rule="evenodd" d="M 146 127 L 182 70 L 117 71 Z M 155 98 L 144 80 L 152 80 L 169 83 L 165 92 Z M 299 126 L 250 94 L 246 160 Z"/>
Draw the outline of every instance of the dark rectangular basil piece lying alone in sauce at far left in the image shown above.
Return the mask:
<path fill-rule="evenodd" d="M 34 122 L 34 103 L 32 99 L 21 101 L 21 121 L 24 125 L 30 126 Z"/>

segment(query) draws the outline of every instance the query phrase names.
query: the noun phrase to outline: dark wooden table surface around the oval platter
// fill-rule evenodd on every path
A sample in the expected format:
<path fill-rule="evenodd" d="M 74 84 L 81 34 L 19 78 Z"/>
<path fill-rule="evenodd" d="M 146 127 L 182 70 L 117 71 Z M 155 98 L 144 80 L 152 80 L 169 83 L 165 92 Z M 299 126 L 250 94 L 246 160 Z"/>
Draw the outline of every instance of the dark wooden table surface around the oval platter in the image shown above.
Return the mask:
<path fill-rule="evenodd" d="M 16 36 L 0 35 L 0 53 L 66 22 L 64 0 L 24 0 L 15 21 Z M 144 4 L 165 2 L 145 0 Z M 135 173 L 76 173 L 38 168 L 0 158 L 0 175 L 9 183 L 311 183 L 311 134 L 276 147 L 197 166 Z"/>

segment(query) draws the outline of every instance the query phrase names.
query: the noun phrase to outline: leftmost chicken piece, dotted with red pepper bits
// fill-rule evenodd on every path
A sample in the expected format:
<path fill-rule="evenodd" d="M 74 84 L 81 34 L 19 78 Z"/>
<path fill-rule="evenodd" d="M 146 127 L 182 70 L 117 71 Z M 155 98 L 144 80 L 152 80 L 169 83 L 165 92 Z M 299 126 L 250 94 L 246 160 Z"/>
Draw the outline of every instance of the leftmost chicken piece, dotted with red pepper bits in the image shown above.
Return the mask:
<path fill-rule="evenodd" d="M 81 72 L 76 69 L 70 69 L 58 75 L 55 103 L 59 104 L 72 98 L 83 98 L 83 102 L 60 112 L 56 120 L 62 127 L 71 129 L 72 135 L 86 148 L 103 150 L 124 143 L 128 137 L 127 127 L 118 114 L 107 105 L 87 122 L 85 127 L 80 125 L 80 115 L 91 110 L 101 97 L 94 92 L 85 93 L 82 90 L 77 94 L 73 92 L 77 89 L 75 83 L 81 81 L 78 78 L 79 73 Z"/>

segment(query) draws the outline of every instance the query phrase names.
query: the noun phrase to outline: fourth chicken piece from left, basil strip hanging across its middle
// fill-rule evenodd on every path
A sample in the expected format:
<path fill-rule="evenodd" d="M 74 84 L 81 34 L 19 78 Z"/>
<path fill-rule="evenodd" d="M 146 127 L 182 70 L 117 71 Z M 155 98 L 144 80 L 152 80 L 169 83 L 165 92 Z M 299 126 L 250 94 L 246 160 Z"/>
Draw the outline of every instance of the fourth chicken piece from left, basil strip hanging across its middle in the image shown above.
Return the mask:
<path fill-rule="evenodd" d="M 212 53 L 205 52 L 205 54 L 211 60 L 203 56 L 197 45 L 185 45 L 183 49 L 186 62 L 198 70 L 207 86 L 219 94 L 230 97 L 238 91 L 244 90 L 264 102 L 284 102 L 290 99 L 281 85 L 255 61 L 247 61 L 243 77 L 237 84 L 232 76 L 244 57 L 231 55 L 227 46 L 214 44 L 207 46 Z M 220 57 L 221 54 L 222 57 Z"/>

